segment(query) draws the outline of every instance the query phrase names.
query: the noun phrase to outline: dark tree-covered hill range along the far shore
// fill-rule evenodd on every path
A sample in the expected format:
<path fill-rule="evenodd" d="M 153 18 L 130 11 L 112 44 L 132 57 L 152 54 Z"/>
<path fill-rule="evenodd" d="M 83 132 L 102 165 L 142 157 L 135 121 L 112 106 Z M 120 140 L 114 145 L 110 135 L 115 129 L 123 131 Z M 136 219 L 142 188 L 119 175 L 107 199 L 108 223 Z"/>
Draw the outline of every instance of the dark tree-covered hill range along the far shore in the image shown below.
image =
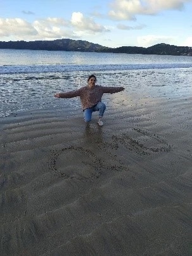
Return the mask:
<path fill-rule="evenodd" d="M 129 53 L 129 54 L 158 54 L 158 55 L 187 55 L 192 56 L 192 47 L 174 46 L 170 44 L 155 44 L 143 48 L 137 46 L 121 46 L 109 48 L 92 42 L 72 39 L 57 39 L 53 41 L 9 41 L 0 42 L 0 49 L 30 49 L 47 51 L 87 51 L 98 53 Z"/>

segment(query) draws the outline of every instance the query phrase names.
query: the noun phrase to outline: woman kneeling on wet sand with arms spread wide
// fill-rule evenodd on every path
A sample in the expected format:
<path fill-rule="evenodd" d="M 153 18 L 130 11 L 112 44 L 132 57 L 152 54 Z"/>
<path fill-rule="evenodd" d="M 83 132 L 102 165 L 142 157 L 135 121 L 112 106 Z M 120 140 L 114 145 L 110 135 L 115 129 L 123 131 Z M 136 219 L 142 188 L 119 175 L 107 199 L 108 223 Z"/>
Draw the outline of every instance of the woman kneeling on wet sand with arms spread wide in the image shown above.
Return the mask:
<path fill-rule="evenodd" d="M 103 114 L 105 112 L 105 104 L 101 102 L 103 93 L 118 93 L 124 91 L 124 87 L 104 87 L 96 85 L 96 76 L 89 75 L 87 79 L 87 86 L 81 87 L 76 91 L 70 91 L 68 93 L 56 93 L 56 98 L 74 98 L 79 96 L 82 104 L 82 110 L 84 111 L 85 122 L 90 122 L 92 113 L 99 112 L 98 124 L 103 125 Z"/>

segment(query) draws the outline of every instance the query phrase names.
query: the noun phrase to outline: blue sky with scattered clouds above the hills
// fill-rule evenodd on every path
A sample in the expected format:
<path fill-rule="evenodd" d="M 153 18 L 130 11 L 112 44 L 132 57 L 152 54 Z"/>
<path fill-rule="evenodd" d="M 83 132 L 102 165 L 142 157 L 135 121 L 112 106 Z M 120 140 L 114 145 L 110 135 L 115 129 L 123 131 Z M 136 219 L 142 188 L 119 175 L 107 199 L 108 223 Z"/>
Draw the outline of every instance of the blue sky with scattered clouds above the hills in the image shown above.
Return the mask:
<path fill-rule="evenodd" d="M 0 0 L 0 41 L 192 47 L 192 0 Z"/>

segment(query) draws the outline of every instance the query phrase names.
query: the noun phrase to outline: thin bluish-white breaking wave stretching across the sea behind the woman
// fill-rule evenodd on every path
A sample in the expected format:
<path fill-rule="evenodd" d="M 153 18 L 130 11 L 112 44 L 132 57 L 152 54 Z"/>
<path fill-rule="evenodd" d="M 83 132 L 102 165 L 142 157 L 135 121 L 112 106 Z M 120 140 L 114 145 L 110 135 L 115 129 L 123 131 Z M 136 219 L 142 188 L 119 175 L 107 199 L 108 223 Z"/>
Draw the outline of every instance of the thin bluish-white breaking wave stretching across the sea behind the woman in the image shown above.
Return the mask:
<path fill-rule="evenodd" d="M 155 68 L 191 68 L 192 63 L 103 64 L 103 65 L 4 65 L 0 74 L 30 74 L 48 72 L 141 70 Z"/>

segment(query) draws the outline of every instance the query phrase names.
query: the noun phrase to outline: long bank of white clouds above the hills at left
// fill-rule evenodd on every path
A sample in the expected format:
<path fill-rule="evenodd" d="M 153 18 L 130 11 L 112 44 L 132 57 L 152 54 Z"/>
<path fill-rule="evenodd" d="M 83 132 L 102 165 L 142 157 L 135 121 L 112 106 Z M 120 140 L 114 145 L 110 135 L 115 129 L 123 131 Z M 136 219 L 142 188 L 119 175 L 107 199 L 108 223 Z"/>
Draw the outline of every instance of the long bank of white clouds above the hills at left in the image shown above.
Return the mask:
<path fill-rule="evenodd" d="M 0 36 L 15 40 L 51 40 L 60 38 L 79 39 L 87 34 L 107 32 L 103 25 L 86 18 L 82 13 L 73 13 L 71 20 L 51 18 L 26 22 L 21 18 L 0 18 Z"/>

